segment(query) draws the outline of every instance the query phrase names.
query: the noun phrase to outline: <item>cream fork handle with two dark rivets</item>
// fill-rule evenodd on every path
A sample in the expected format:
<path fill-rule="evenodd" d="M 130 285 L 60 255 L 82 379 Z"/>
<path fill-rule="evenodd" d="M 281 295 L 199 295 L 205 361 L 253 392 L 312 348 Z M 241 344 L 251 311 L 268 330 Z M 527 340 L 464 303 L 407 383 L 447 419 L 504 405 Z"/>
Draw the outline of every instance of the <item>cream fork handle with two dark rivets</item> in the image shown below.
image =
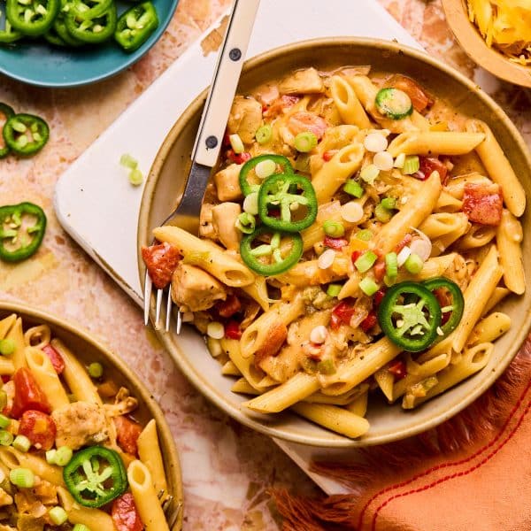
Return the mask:
<path fill-rule="evenodd" d="M 259 4 L 260 0 L 235 0 L 233 4 L 192 151 L 192 160 L 198 164 L 213 167 L 218 160 Z"/>

